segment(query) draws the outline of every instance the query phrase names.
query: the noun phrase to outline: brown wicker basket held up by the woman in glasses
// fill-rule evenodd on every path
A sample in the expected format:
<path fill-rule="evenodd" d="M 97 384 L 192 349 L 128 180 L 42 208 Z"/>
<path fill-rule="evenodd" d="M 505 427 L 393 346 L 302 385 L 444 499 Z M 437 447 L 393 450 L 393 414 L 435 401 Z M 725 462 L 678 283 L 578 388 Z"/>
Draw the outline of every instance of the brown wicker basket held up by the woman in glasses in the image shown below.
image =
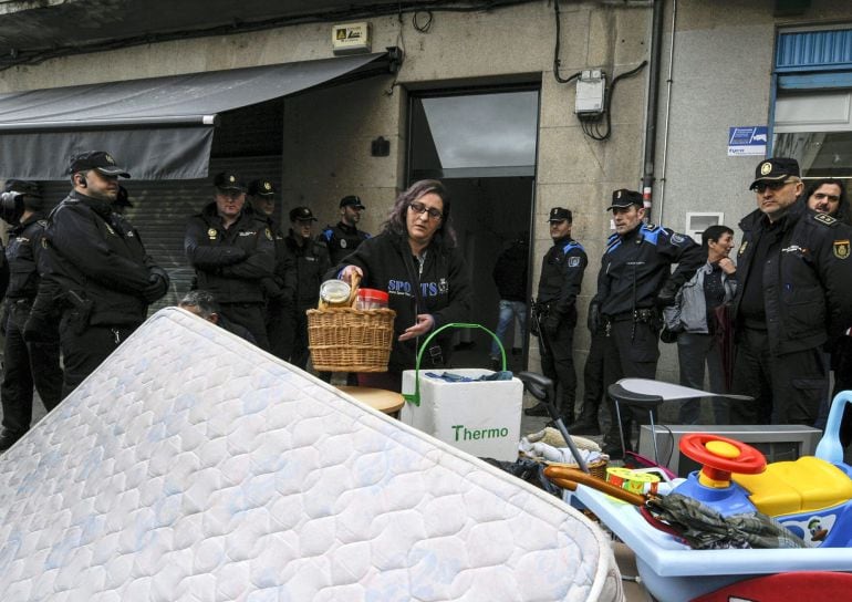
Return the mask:
<path fill-rule="evenodd" d="M 308 310 L 308 349 L 322 372 L 387 372 L 394 310 Z"/>

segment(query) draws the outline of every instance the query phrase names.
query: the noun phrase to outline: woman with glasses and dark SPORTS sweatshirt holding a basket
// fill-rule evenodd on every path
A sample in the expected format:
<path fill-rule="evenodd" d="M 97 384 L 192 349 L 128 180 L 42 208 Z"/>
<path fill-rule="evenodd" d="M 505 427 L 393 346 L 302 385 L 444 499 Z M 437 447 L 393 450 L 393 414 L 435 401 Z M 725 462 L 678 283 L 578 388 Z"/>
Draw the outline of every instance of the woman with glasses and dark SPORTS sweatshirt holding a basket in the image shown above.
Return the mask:
<path fill-rule="evenodd" d="M 362 373 L 359 384 L 402 391 L 402 373 L 414 369 L 419 346 L 435 329 L 468 322 L 470 279 L 461 249 L 456 245 L 444 185 L 426 179 L 403 191 L 382 232 L 334 268 L 333 274 L 361 287 L 388 293 L 396 311 L 394 342 L 386 373 Z M 424 353 L 424 366 L 448 365 L 450 338 L 438 336 Z"/>

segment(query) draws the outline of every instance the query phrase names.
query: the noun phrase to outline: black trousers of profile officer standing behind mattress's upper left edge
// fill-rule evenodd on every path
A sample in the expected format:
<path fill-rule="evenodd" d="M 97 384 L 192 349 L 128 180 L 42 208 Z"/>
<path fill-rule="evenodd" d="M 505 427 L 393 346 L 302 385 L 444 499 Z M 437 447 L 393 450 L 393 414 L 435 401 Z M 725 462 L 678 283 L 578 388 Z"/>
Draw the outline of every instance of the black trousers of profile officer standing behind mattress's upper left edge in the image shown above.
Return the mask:
<path fill-rule="evenodd" d="M 67 397 L 138 326 L 139 324 L 83 326 L 76 310 L 65 311 L 59 324 L 60 346 L 65 366 L 62 397 Z"/>

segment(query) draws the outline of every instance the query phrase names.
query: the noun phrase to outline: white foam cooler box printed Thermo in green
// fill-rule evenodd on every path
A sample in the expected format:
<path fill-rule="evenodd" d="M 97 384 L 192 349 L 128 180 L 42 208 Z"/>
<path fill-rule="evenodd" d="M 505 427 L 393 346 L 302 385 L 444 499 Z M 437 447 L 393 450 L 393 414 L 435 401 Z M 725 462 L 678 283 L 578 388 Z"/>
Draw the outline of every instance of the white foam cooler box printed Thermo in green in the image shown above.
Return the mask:
<path fill-rule="evenodd" d="M 420 405 L 405 402 L 399 419 L 480 458 L 518 459 L 523 383 L 511 381 L 447 382 L 420 371 Z M 436 374 L 441 370 L 430 371 Z M 450 374 L 478 378 L 485 369 L 451 369 Z M 413 394 L 415 371 L 403 373 L 403 393 Z"/>

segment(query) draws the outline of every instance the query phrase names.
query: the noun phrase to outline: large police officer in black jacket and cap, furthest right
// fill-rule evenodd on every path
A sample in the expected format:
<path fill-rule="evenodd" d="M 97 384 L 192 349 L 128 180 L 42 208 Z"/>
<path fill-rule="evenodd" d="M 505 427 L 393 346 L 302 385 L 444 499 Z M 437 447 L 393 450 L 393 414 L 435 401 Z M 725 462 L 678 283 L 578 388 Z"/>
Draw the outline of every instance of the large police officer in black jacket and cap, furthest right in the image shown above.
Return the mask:
<path fill-rule="evenodd" d="M 828 392 L 822 346 L 852 324 L 852 229 L 809 210 L 796 159 L 760 162 L 740 221 L 734 424 L 807 424 Z"/>

